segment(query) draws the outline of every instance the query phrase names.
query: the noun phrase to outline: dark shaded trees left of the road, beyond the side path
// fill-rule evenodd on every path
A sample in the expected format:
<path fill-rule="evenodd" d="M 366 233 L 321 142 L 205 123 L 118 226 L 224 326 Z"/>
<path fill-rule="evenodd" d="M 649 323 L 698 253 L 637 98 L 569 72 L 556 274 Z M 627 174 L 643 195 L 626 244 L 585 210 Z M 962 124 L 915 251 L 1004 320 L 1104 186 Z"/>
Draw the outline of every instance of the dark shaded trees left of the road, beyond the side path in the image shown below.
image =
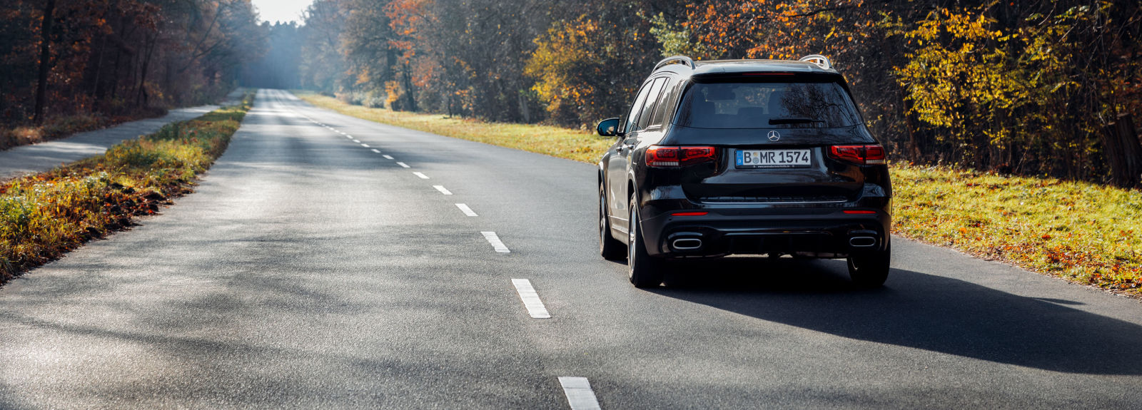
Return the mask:
<path fill-rule="evenodd" d="M 0 148 L 217 102 L 267 32 L 249 0 L 5 0 Z"/>

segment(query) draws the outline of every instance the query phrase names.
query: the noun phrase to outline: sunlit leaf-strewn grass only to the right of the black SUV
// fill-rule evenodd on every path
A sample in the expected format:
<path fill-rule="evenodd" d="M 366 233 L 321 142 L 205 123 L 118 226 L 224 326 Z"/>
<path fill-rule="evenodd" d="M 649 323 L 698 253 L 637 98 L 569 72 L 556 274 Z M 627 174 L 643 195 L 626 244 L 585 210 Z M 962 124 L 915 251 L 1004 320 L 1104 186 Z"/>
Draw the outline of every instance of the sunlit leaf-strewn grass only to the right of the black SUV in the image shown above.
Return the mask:
<path fill-rule="evenodd" d="M 1142 192 L 893 164 L 896 234 L 1142 296 Z"/>

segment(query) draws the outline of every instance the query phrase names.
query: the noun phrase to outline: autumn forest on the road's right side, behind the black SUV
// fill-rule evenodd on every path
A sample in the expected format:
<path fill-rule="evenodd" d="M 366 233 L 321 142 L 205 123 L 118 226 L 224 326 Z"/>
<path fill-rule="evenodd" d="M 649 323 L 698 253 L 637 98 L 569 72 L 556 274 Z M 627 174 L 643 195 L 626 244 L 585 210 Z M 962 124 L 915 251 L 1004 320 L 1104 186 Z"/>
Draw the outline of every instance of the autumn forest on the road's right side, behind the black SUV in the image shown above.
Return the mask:
<path fill-rule="evenodd" d="M 617 116 L 664 56 L 823 54 L 895 161 L 1137 186 L 1142 1 L 317 0 L 264 85 L 485 121 Z M 296 50 L 296 51 L 295 51 Z M 273 83 L 267 83 L 272 80 Z"/>

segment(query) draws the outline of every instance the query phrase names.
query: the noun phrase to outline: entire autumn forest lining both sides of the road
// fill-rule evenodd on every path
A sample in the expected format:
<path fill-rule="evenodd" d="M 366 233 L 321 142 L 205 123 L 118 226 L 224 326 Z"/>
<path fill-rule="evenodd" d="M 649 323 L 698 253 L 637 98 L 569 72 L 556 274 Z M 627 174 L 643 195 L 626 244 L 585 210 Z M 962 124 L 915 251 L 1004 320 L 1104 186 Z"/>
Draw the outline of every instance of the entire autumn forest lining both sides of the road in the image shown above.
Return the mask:
<path fill-rule="evenodd" d="M 304 16 L 6 1 L 0 119 L 143 115 L 240 83 L 588 128 L 664 56 L 822 54 L 894 161 L 1142 184 L 1142 0 L 316 0 Z"/>

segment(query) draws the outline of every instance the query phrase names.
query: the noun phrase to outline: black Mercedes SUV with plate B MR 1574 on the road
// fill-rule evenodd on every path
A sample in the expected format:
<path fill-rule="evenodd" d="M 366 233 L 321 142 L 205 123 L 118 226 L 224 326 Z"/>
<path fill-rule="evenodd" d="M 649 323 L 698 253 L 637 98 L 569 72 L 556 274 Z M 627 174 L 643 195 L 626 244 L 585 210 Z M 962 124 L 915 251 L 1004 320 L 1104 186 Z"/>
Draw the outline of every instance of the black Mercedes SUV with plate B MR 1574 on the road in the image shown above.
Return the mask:
<path fill-rule="evenodd" d="M 600 252 L 635 287 L 673 260 L 731 254 L 847 258 L 860 286 L 888 275 L 892 185 L 844 77 L 822 56 L 669 57 L 598 162 Z"/>

